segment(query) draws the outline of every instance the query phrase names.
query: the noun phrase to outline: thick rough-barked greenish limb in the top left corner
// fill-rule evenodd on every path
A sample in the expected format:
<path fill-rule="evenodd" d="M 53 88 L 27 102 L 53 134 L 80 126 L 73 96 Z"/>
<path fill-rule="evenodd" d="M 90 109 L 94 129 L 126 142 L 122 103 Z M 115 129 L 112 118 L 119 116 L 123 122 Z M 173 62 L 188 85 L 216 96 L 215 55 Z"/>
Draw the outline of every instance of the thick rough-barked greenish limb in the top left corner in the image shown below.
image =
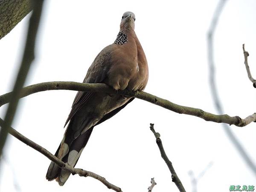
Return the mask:
<path fill-rule="evenodd" d="M 0 39 L 7 35 L 31 10 L 31 0 L 0 0 Z"/>

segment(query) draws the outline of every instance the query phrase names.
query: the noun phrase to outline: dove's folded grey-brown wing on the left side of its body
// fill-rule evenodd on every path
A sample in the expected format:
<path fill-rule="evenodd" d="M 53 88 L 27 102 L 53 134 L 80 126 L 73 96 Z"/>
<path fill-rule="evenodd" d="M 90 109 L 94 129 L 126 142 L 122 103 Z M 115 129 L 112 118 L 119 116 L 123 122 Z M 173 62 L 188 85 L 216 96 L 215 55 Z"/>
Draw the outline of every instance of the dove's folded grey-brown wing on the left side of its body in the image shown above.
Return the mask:
<path fill-rule="evenodd" d="M 102 49 L 89 67 L 83 83 L 102 83 L 107 77 L 108 70 L 111 67 L 111 46 Z M 79 91 L 74 99 L 72 109 L 64 127 L 72 119 L 77 111 L 93 96 L 95 93 Z"/>

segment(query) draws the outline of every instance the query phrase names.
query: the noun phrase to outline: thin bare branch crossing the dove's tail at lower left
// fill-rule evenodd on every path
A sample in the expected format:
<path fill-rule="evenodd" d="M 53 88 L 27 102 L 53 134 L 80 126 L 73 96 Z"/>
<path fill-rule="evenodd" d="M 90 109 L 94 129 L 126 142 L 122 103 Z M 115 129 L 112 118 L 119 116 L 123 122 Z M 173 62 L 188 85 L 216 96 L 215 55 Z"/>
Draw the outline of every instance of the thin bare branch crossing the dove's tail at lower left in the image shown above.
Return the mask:
<path fill-rule="evenodd" d="M 0 118 L 0 126 L 2 127 L 3 125 L 4 125 L 4 121 L 3 121 L 3 119 Z M 42 146 L 38 145 L 37 143 L 33 142 L 32 140 L 29 140 L 28 138 L 26 138 L 25 136 L 20 134 L 18 131 L 16 131 L 12 127 L 9 127 L 9 133 L 12 136 L 16 137 L 18 140 L 20 140 L 21 142 L 25 143 L 26 145 L 29 145 L 36 151 L 43 154 L 49 160 L 56 163 L 61 169 L 71 172 L 72 175 L 78 174 L 79 176 L 83 176 L 83 177 L 93 177 L 93 178 L 99 180 L 100 182 L 102 182 L 105 186 L 108 187 L 108 189 L 113 189 L 116 192 L 122 192 L 122 190 L 119 187 L 109 183 L 104 177 L 97 175 L 96 173 L 83 170 L 83 169 L 73 168 L 72 166 L 68 165 L 67 163 L 64 163 L 63 161 L 61 161 L 57 157 L 55 157 L 53 154 L 51 154 L 49 151 L 47 151 L 47 149 L 43 148 Z"/>

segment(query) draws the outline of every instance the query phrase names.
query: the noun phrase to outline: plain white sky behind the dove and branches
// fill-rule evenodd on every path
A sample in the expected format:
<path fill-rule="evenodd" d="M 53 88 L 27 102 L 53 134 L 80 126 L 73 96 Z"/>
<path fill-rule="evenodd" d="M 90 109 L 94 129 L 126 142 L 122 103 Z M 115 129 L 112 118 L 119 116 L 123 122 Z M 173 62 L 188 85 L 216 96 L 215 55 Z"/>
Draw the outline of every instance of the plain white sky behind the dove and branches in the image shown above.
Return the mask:
<path fill-rule="evenodd" d="M 207 38 L 217 0 L 181 1 L 46 1 L 38 34 L 36 59 L 26 85 L 45 81 L 84 79 L 96 55 L 112 44 L 123 12 L 136 15 L 135 31 L 149 65 L 145 91 L 171 102 L 216 113 L 208 82 Z M 247 78 L 242 44 L 250 53 L 256 77 L 256 1 L 227 2 L 215 33 L 217 86 L 225 113 L 242 118 L 256 112 L 256 90 Z M 0 94 L 12 90 L 23 52 L 29 17 L 0 41 Z M 64 134 L 63 125 L 74 91 L 47 91 L 22 99 L 13 127 L 53 154 Z M 3 117 L 6 107 L 0 109 Z M 136 99 L 113 118 L 97 126 L 84 149 L 78 168 L 95 172 L 124 192 L 147 191 L 151 177 L 154 191 L 178 189 L 160 157 L 149 123 L 160 132 L 169 159 L 191 191 L 189 170 L 198 175 L 213 162 L 198 183 L 198 192 L 228 192 L 230 185 L 256 186 L 253 172 L 227 139 L 220 124 L 172 111 Z M 255 124 L 231 126 L 254 160 Z M 15 177 L 22 192 L 109 191 L 93 178 L 70 176 L 63 187 L 45 179 L 50 161 L 10 136 L 5 148 L 8 163 L 0 167 L 0 191 L 15 191 Z M 254 162 L 256 163 L 256 162 Z"/>

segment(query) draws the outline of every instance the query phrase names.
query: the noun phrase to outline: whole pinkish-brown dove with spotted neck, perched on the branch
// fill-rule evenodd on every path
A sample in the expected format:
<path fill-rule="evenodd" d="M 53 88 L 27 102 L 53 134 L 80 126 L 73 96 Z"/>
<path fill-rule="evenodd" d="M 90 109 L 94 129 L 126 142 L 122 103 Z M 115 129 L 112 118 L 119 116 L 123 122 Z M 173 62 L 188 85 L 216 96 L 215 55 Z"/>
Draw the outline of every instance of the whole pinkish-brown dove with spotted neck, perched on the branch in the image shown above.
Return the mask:
<path fill-rule="evenodd" d="M 105 83 L 115 90 L 144 90 L 148 64 L 135 32 L 135 15 L 125 12 L 114 44 L 105 47 L 87 71 L 84 83 Z M 78 92 L 65 125 L 67 130 L 55 156 L 75 166 L 93 127 L 111 118 L 134 98 L 107 93 Z M 70 173 L 51 162 L 46 178 L 64 185 Z"/>

